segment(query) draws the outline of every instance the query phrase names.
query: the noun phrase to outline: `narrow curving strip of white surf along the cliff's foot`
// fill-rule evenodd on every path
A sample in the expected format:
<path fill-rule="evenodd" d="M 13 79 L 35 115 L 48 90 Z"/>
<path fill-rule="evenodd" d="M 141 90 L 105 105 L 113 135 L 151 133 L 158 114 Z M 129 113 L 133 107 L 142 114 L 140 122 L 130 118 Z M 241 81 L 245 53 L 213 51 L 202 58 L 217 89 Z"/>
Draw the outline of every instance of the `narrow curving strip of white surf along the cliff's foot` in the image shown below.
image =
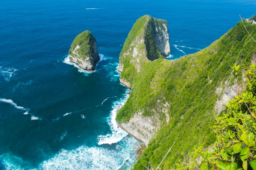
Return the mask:
<path fill-rule="evenodd" d="M 129 91 L 129 90 L 127 90 Z M 122 140 L 125 136 L 128 135 L 127 132 L 125 132 L 124 130 L 122 130 L 115 118 L 116 118 L 116 114 L 118 112 L 118 110 L 120 110 L 120 108 L 122 106 L 124 106 L 125 102 L 127 101 L 129 97 L 129 94 L 125 94 L 124 98 L 122 98 L 121 100 L 115 102 L 112 106 L 112 110 L 110 113 L 110 117 L 108 119 L 108 124 L 110 126 L 111 129 L 111 134 L 107 134 L 107 135 L 98 135 L 98 145 L 102 145 L 102 144 L 112 144 L 112 143 L 117 143 L 120 140 Z"/>

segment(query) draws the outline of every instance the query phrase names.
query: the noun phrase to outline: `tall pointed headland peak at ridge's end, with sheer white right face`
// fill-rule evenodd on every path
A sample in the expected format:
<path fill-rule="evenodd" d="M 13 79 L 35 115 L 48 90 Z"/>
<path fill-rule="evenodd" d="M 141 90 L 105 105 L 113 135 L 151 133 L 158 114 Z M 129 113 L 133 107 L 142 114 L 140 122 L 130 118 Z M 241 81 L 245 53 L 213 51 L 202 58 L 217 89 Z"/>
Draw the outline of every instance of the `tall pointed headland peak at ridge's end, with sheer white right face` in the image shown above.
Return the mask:
<path fill-rule="evenodd" d="M 122 73 L 120 82 L 132 88 L 133 79 L 144 64 L 164 58 L 169 53 L 167 21 L 149 15 L 140 17 L 129 32 L 119 56 L 118 71 Z"/>

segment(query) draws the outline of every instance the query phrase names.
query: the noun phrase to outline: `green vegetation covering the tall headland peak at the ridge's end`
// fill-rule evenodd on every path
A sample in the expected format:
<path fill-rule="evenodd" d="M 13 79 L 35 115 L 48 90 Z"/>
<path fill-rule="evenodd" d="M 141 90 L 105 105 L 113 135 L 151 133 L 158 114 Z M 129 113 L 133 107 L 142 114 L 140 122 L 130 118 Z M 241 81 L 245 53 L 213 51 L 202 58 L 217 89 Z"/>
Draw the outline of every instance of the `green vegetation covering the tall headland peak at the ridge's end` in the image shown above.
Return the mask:
<path fill-rule="evenodd" d="M 133 80 L 137 77 L 137 68 L 141 69 L 141 67 L 147 64 L 149 60 L 153 61 L 158 58 L 163 58 L 157 49 L 154 39 L 156 34 L 155 28 L 162 23 L 167 24 L 167 21 L 144 15 L 134 23 L 128 34 L 120 53 L 119 65 L 123 65 L 123 71 L 120 78 L 128 81 L 131 87 L 133 86 Z M 163 26 L 160 27 L 162 30 Z M 159 31 L 161 32 L 161 30 Z M 144 43 L 138 43 L 140 39 L 144 39 Z M 139 58 L 139 62 L 137 63 L 134 61 L 134 57 L 136 56 L 132 56 L 135 46 L 137 46 L 137 50 L 143 55 Z"/>

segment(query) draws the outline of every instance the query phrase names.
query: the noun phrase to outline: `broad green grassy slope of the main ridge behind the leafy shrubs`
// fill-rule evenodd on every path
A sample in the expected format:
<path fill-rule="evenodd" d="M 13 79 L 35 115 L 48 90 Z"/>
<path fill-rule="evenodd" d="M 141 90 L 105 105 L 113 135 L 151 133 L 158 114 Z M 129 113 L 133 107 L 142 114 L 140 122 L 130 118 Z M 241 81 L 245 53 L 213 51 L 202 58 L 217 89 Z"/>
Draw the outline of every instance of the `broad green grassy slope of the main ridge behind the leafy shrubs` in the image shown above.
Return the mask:
<path fill-rule="evenodd" d="M 256 37 L 256 25 L 246 23 L 246 27 Z M 246 68 L 256 55 L 255 47 L 255 42 L 239 21 L 220 39 L 195 54 L 175 61 L 157 59 L 145 62 L 133 77 L 132 92 L 116 120 L 125 122 L 135 112 L 143 111 L 144 116 L 160 115 L 162 125 L 133 168 L 146 169 L 144 165 L 150 163 L 150 167 L 156 169 L 178 134 L 172 152 L 161 164 L 162 169 L 173 168 L 183 158 L 181 152 L 188 154 L 194 147 L 213 144 L 215 137 L 209 127 L 213 125 L 216 114 L 216 88 L 234 83 L 231 66 L 236 63 Z M 130 68 L 129 65 L 126 67 Z M 122 73 L 122 76 L 127 75 Z M 130 79 L 129 76 L 132 74 L 127 76 Z M 162 111 L 165 103 L 169 105 L 167 115 Z"/>

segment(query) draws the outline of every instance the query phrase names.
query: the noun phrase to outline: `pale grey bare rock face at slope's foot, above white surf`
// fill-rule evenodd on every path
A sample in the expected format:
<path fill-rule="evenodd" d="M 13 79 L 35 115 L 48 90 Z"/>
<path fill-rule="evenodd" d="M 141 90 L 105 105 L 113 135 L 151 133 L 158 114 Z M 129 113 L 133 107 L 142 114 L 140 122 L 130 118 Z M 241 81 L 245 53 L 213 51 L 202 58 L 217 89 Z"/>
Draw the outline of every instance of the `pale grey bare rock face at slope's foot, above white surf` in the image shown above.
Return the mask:
<path fill-rule="evenodd" d="M 144 117 L 142 116 L 142 112 L 138 112 L 128 122 L 120 123 L 119 126 L 129 135 L 143 142 L 147 147 L 149 140 L 160 126 L 160 121 L 156 115 Z"/>

